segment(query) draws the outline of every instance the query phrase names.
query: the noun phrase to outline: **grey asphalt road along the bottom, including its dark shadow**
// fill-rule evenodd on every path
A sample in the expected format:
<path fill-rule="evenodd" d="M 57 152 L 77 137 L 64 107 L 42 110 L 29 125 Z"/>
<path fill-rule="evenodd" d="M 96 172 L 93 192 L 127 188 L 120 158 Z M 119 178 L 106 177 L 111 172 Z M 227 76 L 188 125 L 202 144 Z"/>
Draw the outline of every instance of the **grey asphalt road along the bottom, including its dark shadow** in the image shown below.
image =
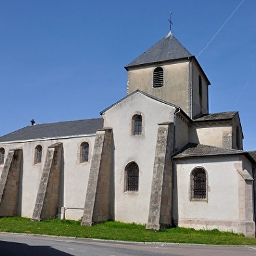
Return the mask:
<path fill-rule="evenodd" d="M 195 244 L 127 243 L 32 234 L 0 233 L 4 256 L 163 256 L 221 255 L 256 256 L 256 246 L 202 246 Z"/>

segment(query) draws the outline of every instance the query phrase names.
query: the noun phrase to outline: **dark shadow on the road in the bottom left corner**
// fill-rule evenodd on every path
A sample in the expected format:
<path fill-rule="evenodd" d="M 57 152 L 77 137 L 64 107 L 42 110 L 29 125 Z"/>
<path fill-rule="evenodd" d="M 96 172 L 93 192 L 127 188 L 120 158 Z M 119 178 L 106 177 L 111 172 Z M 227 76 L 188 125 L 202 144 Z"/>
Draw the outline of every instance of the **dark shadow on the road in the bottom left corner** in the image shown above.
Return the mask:
<path fill-rule="evenodd" d="M 71 254 L 64 253 L 50 246 L 28 246 L 27 244 L 0 241 L 0 255 L 4 256 L 69 256 Z"/>

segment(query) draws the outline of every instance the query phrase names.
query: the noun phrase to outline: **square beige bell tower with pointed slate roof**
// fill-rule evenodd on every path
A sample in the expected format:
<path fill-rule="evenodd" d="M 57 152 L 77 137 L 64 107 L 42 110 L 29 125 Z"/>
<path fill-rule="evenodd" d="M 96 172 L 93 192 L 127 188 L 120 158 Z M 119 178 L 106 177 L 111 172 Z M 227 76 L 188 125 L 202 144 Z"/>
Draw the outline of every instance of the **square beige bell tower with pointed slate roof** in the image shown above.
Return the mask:
<path fill-rule="evenodd" d="M 210 82 L 195 56 L 171 31 L 125 69 L 127 94 L 140 89 L 180 106 L 191 119 L 208 114 Z"/>

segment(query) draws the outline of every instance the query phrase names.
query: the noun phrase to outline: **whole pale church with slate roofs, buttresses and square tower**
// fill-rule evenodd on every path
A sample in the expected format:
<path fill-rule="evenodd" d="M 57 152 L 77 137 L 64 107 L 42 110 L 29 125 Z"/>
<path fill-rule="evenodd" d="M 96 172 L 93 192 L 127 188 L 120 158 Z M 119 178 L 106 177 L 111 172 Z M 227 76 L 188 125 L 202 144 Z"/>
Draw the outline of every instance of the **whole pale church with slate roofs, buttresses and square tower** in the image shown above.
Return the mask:
<path fill-rule="evenodd" d="M 0 216 L 255 237 L 256 152 L 238 112 L 209 112 L 196 57 L 170 31 L 125 69 L 127 95 L 101 118 L 0 137 Z"/>

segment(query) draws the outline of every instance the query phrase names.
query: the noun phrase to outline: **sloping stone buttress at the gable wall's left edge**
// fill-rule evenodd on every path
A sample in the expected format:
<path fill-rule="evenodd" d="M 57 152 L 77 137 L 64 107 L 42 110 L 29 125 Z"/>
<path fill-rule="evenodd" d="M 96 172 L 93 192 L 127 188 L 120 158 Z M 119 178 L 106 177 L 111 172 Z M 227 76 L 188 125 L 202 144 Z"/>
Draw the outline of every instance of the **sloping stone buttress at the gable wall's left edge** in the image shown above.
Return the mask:
<path fill-rule="evenodd" d="M 96 132 L 82 225 L 111 219 L 112 129 Z"/>

